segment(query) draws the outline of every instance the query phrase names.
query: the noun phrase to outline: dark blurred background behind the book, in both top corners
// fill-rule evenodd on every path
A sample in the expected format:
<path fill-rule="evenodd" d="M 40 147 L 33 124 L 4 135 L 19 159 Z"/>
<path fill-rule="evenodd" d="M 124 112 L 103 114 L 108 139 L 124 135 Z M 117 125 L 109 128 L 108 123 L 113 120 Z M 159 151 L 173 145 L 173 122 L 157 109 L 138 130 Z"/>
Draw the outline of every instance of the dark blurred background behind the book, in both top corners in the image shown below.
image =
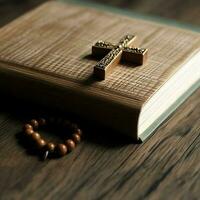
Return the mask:
<path fill-rule="evenodd" d="M 47 0 L 0 0 L 0 25 L 45 1 Z M 132 12 L 200 25 L 200 2 L 198 0 L 82 0 L 81 2 L 97 2 Z"/>

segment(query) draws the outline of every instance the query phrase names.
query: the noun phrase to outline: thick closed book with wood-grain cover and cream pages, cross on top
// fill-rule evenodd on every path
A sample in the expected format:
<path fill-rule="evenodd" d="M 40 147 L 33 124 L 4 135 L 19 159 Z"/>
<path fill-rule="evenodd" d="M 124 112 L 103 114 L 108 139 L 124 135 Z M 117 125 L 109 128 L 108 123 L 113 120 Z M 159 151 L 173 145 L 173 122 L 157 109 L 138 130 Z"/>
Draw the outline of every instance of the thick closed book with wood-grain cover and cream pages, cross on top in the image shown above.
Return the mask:
<path fill-rule="evenodd" d="M 199 88 L 199 47 L 196 32 L 48 2 L 0 29 L 0 90 L 144 141 Z"/>

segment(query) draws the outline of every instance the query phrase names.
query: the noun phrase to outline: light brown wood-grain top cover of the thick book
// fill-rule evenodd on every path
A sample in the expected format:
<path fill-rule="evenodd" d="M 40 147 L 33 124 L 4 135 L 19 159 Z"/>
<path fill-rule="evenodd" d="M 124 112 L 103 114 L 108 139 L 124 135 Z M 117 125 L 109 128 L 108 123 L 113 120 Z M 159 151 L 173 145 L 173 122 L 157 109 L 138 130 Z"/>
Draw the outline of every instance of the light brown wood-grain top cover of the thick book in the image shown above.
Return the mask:
<path fill-rule="evenodd" d="M 141 46 L 149 49 L 148 62 L 140 67 L 117 65 L 105 81 L 94 81 L 86 88 L 84 82 L 97 64 L 96 59 L 85 58 L 91 55 L 93 43 L 98 40 L 117 43 L 124 33 L 137 35 Z M 66 89 L 67 85 L 80 87 L 87 96 L 101 95 L 105 101 L 108 98 L 130 108 L 140 108 L 199 46 L 199 33 L 49 2 L 1 29 L 0 61 L 16 65 L 17 71 L 27 71 L 32 77 L 39 72 L 40 79 L 48 74 L 58 78 L 58 83 L 68 81 L 63 85 Z"/>

